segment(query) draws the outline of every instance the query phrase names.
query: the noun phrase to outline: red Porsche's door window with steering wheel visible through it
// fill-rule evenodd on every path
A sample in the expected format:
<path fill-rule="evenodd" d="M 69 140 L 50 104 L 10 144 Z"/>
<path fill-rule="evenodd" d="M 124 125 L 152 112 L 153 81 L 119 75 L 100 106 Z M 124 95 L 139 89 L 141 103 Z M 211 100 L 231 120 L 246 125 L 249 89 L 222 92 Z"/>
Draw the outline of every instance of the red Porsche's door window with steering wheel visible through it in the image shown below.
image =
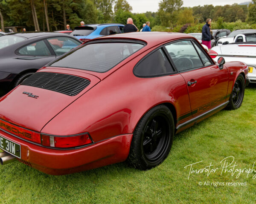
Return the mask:
<path fill-rule="evenodd" d="M 165 47 L 170 54 L 177 71 L 186 71 L 204 66 L 190 40 L 174 42 Z"/>

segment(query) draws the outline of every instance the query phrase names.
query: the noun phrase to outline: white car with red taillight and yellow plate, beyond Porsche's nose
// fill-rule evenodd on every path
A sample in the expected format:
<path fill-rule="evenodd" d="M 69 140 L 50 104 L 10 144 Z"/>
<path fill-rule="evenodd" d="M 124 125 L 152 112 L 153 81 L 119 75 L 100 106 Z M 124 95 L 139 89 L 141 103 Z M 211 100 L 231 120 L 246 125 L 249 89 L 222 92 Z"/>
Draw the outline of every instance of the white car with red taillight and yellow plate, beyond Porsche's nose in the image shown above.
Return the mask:
<path fill-rule="evenodd" d="M 256 42 L 234 42 L 228 45 L 215 46 L 209 51 L 209 55 L 212 58 L 223 57 L 226 62 L 246 63 L 249 68 L 249 82 L 256 83 Z"/>

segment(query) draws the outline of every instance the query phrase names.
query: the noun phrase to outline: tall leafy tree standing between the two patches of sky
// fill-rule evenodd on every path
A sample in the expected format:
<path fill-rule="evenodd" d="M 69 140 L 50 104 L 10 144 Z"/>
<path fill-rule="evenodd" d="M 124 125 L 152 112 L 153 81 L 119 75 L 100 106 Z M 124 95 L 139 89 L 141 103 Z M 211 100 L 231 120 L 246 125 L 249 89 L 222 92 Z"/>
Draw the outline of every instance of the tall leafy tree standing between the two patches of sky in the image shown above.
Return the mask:
<path fill-rule="evenodd" d="M 174 23 L 174 11 L 177 11 L 182 5 L 182 0 L 161 0 L 158 9 L 161 24 L 169 27 L 172 23 Z"/>

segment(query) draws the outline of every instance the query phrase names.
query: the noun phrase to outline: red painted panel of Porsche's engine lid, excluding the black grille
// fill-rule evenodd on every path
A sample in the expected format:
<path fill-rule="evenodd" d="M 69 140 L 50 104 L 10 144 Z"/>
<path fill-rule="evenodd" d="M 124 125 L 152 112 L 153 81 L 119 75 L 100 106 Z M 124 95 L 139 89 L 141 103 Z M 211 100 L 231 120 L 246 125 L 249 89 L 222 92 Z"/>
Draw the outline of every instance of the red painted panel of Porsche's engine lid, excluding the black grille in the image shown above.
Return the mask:
<path fill-rule="evenodd" d="M 71 75 L 72 77 L 75 76 L 89 80 L 90 84 L 74 96 L 32 85 L 19 85 L 0 98 L 0 119 L 40 132 L 52 118 L 100 82 L 98 77 L 83 71 L 55 68 L 42 69 L 37 73 Z M 24 82 L 27 82 L 27 80 Z M 68 83 L 71 84 L 70 81 Z"/>

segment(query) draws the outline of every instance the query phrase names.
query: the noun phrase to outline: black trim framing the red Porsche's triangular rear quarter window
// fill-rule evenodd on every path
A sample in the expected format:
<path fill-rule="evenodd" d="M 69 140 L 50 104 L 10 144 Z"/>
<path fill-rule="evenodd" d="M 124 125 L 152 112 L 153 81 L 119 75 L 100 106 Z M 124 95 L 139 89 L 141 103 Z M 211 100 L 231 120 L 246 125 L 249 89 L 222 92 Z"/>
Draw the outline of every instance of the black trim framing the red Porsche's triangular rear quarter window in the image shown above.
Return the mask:
<path fill-rule="evenodd" d="M 170 62 L 170 59 L 169 59 L 169 55 L 166 56 L 168 62 L 170 63 L 171 67 L 173 68 L 174 71 L 172 72 L 167 72 L 165 74 L 152 74 L 150 76 L 140 76 L 140 75 L 136 75 L 134 73 L 135 69 L 137 68 L 138 65 L 140 65 L 141 62 L 143 62 L 147 57 L 149 57 L 151 54 L 153 54 L 154 52 L 158 51 L 162 49 L 163 51 L 163 54 L 166 56 L 166 50 L 165 48 L 163 47 L 163 45 L 160 45 L 159 47 L 155 48 L 154 50 L 150 51 L 148 54 L 146 54 L 142 59 L 140 59 L 139 62 L 137 62 L 137 64 L 134 66 L 133 68 L 133 74 L 134 76 L 138 77 L 138 78 L 155 78 L 155 77 L 163 77 L 163 76 L 170 76 L 170 75 L 173 75 L 173 74 L 177 74 L 177 70 L 173 67 L 173 64 L 172 62 Z"/>

